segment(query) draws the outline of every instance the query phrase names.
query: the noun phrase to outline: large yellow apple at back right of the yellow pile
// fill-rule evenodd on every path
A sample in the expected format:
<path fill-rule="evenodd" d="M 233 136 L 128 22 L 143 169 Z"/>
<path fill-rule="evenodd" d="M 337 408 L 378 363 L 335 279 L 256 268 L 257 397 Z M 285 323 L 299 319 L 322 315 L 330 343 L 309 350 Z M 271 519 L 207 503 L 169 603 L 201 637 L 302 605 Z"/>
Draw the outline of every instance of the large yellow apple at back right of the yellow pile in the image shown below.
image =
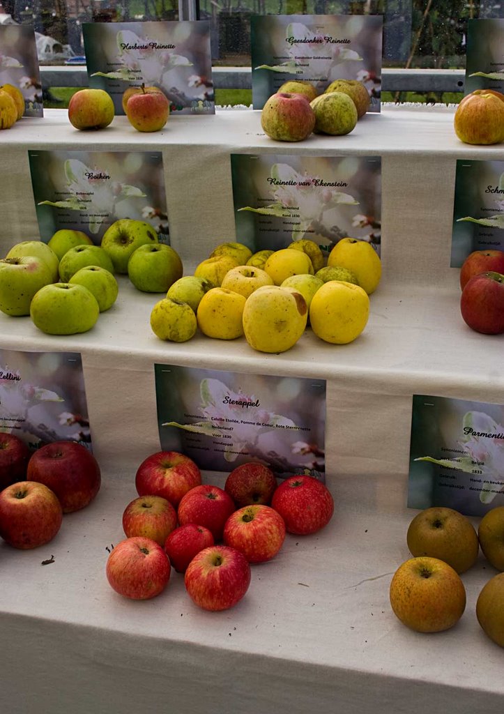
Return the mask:
<path fill-rule="evenodd" d="M 328 266 L 341 266 L 355 274 L 359 285 L 371 295 L 380 283 L 380 256 L 367 241 L 357 238 L 343 238 L 329 253 Z"/>

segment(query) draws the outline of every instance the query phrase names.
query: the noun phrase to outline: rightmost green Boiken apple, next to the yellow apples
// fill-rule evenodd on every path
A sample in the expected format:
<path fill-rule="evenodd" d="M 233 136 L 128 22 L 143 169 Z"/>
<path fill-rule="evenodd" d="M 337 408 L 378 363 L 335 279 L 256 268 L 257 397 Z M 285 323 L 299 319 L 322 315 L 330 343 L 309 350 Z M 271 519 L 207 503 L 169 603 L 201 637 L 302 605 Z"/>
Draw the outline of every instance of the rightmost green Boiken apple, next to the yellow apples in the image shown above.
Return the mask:
<path fill-rule="evenodd" d="M 128 277 L 144 293 L 166 293 L 182 273 L 180 256 L 164 243 L 140 246 L 128 261 Z"/>

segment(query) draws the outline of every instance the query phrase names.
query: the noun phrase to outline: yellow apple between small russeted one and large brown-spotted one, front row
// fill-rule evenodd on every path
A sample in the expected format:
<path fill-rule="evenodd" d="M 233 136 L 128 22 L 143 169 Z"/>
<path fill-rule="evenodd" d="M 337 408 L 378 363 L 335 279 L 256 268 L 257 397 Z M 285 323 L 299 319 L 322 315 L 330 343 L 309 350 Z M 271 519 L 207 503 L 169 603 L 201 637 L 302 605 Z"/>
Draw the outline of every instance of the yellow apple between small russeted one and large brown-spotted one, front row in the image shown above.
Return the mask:
<path fill-rule="evenodd" d="M 218 340 L 235 340 L 243 335 L 246 298 L 225 288 L 211 288 L 201 298 L 196 318 L 203 335 Z"/>

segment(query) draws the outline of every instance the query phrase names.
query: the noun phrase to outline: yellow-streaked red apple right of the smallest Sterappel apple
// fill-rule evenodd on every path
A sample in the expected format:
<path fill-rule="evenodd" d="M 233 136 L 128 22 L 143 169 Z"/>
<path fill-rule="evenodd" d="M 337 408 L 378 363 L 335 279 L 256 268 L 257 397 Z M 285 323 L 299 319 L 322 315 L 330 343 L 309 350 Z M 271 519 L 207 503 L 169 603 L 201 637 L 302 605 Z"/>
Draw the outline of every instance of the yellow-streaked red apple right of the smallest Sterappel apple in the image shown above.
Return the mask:
<path fill-rule="evenodd" d="M 240 550 L 249 563 L 271 560 L 285 538 L 286 524 L 270 506 L 243 506 L 231 513 L 224 526 L 224 543 Z"/>

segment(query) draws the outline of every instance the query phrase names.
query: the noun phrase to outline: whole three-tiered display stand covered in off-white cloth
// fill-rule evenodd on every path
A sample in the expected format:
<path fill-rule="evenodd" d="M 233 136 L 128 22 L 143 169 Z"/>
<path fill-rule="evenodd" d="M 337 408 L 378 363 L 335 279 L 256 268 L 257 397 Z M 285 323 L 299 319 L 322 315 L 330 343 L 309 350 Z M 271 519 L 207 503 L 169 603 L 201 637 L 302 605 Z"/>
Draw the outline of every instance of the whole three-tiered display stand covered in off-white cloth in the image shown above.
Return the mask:
<path fill-rule="evenodd" d="M 450 268 L 456 159 L 504 160 L 504 146 L 471 147 L 453 109 L 383 108 L 348 136 L 278 144 L 260 112 L 172 117 L 138 134 L 116 117 L 76 131 L 65 111 L 23 119 L 1 134 L 0 246 L 39 235 L 28 149 L 163 151 L 171 242 L 185 273 L 235 235 L 231 153 L 381 156 L 383 278 L 371 318 L 348 346 L 308 330 L 281 355 L 244 339 L 163 343 L 149 315 L 159 296 L 120 281 L 119 299 L 89 333 L 46 336 L 29 318 L 0 316 L 1 346 L 82 353 L 94 453 L 103 486 L 66 516 L 44 548 L 0 548 L 4 657 L 0 708 L 9 714 L 348 714 L 449 711 L 504 705 L 503 650 L 480 629 L 475 602 L 495 570 L 480 556 L 463 575 L 468 604 L 446 633 L 420 635 L 388 603 L 393 571 L 409 557 L 405 532 L 414 393 L 504 402 L 503 336 L 463 323 Z M 134 603 L 106 582 L 108 549 L 124 534 L 138 464 L 158 451 L 154 363 L 327 381 L 326 468 L 336 512 L 320 533 L 289 536 L 253 567 L 246 598 L 223 613 L 191 603 L 172 572 L 166 591 Z M 210 480 L 210 476 L 207 476 Z M 473 521 L 477 525 L 478 519 Z M 54 555 L 54 563 L 41 561 Z"/>

